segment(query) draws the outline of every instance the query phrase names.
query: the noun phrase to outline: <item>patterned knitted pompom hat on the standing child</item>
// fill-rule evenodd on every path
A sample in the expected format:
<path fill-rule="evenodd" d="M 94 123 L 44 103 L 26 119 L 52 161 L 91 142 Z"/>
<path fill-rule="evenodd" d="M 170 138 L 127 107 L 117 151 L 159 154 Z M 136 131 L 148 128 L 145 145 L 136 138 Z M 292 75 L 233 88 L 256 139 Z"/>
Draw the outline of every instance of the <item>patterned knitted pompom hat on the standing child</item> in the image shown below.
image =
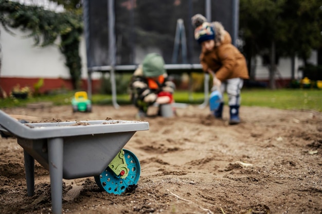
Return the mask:
<path fill-rule="evenodd" d="M 207 40 L 214 40 L 216 33 L 210 23 L 207 22 L 205 16 L 201 14 L 195 14 L 191 18 L 192 26 L 195 27 L 194 38 L 201 44 Z"/>

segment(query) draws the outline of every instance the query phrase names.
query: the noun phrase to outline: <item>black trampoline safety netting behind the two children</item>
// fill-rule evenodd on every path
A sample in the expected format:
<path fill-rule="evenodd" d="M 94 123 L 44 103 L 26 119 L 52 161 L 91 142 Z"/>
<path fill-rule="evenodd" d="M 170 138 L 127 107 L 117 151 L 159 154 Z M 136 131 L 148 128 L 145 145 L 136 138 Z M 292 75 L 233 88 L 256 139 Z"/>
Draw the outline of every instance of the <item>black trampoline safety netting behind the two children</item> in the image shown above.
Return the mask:
<path fill-rule="evenodd" d="M 109 65 L 108 1 L 87 0 L 88 67 Z M 194 40 L 191 17 L 205 15 L 205 0 L 117 0 L 114 1 L 116 64 L 138 64 L 150 51 L 162 53 L 166 64 L 199 63 L 200 46 Z M 219 21 L 232 32 L 232 0 L 211 0 L 211 21 Z M 174 52 L 177 20 L 184 23 L 186 55 L 182 46 Z M 173 54 L 176 61 L 173 62 Z M 185 58 L 185 59 L 184 59 Z"/>

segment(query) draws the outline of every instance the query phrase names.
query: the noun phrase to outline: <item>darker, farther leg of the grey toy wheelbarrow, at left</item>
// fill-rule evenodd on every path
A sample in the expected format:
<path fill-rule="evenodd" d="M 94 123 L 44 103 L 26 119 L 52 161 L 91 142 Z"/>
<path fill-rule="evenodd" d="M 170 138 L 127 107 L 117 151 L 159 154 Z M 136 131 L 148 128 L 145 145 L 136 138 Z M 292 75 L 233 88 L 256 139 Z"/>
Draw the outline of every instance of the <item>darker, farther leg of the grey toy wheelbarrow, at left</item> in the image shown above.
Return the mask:
<path fill-rule="evenodd" d="M 33 196 L 34 194 L 34 159 L 24 149 L 25 159 L 25 172 L 26 172 L 26 183 L 27 183 L 27 196 Z"/>

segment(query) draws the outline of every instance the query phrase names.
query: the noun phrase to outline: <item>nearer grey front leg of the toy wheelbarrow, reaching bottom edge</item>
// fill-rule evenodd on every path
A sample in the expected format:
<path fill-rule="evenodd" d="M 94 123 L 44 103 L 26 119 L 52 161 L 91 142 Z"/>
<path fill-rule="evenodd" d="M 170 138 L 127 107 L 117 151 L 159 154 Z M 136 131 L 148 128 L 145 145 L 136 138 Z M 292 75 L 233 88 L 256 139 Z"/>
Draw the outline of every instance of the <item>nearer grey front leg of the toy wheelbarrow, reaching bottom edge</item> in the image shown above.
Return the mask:
<path fill-rule="evenodd" d="M 63 191 L 63 139 L 48 139 L 48 161 L 50 174 L 52 213 L 62 212 Z"/>

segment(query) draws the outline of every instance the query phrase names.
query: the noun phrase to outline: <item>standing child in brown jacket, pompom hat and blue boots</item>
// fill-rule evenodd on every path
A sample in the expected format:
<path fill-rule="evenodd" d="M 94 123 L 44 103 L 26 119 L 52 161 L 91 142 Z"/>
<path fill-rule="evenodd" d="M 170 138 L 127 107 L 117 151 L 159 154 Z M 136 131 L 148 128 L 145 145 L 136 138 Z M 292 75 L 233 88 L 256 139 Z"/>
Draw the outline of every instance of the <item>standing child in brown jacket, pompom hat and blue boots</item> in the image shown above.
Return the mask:
<path fill-rule="evenodd" d="M 219 22 L 208 23 L 207 19 L 196 14 L 191 18 L 195 28 L 195 40 L 201 45 L 200 63 L 203 71 L 212 75 L 213 86 L 228 94 L 229 124 L 240 123 L 240 91 L 243 80 L 248 79 L 244 55 L 231 44 L 231 37 Z M 214 111 L 216 118 L 222 118 L 224 102 Z"/>

